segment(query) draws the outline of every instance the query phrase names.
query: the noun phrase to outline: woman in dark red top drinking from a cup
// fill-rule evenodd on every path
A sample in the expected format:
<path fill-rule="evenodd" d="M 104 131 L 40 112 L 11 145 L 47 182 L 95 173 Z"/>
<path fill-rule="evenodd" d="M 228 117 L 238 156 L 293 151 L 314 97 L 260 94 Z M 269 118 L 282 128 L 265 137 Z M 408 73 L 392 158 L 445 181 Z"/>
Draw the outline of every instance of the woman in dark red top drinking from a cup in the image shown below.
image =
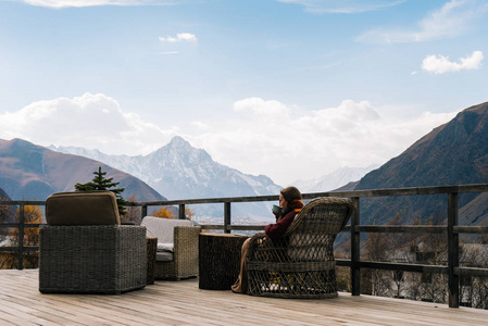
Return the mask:
<path fill-rule="evenodd" d="M 278 240 L 291 225 L 295 216 L 303 208 L 301 201 L 302 195 L 296 187 L 288 187 L 279 192 L 279 206 L 281 210 L 279 212 L 273 211 L 276 216 L 276 223 L 266 225 L 264 233 L 266 237 L 273 241 Z M 232 286 L 232 290 L 236 293 L 248 292 L 248 273 L 246 268 L 246 259 L 248 255 L 248 248 L 251 239 L 246 240 L 242 244 L 241 261 L 240 261 L 240 273 L 237 281 Z"/>

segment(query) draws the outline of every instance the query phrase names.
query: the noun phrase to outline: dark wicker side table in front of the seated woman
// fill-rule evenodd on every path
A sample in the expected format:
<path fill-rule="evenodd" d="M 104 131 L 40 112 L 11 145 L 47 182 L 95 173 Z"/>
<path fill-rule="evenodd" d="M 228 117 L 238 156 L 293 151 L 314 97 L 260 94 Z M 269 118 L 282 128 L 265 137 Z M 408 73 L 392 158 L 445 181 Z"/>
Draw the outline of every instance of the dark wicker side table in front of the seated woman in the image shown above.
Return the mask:
<path fill-rule="evenodd" d="M 230 290 L 240 269 L 242 243 L 248 236 L 201 233 L 199 236 L 200 289 Z"/>

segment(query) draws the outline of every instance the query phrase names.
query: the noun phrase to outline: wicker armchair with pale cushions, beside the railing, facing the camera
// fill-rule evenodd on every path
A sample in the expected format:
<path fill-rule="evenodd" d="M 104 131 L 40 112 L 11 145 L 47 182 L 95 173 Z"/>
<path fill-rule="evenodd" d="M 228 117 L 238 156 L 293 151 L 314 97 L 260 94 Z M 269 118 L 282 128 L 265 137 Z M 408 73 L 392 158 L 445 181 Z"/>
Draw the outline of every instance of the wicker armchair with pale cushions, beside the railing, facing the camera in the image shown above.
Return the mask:
<path fill-rule="evenodd" d="M 198 235 L 200 226 L 189 220 L 153 216 L 142 218 L 147 236 L 158 238 L 155 279 L 180 280 L 198 276 Z"/>

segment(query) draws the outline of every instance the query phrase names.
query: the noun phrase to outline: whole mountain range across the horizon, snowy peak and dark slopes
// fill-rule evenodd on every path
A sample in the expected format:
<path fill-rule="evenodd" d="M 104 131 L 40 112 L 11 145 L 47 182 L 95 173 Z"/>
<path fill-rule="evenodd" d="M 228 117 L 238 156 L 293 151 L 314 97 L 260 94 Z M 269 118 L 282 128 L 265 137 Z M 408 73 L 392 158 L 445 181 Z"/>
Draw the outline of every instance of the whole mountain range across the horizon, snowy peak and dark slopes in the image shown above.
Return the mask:
<path fill-rule="evenodd" d="M 173 138 L 168 145 L 148 155 L 138 156 L 107 155 L 80 148 L 51 149 L 55 151 L 21 139 L 0 140 L 0 188 L 12 199 L 43 200 L 51 192 L 72 190 L 75 183 L 91 179 L 92 172 L 102 165 L 110 177 L 127 188 L 127 193 L 137 193 L 139 201 L 159 200 L 162 197 L 158 191 L 170 199 L 190 199 L 276 195 L 280 189 L 266 176 L 242 174 L 214 162 L 204 150 L 192 148 L 182 137 Z M 402 154 L 361 178 L 361 173 L 372 168 L 374 166 L 362 172 L 355 170 L 360 173 L 355 176 L 354 170 L 338 170 L 320 180 L 297 181 L 296 185 L 302 187 L 303 192 L 322 192 L 331 190 L 325 187 L 333 188 L 348 181 L 339 189 L 486 184 L 488 102 L 465 109 Z M 135 177 L 125 179 L 128 174 Z M 354 178 L 360 180 L 354 181 Z M 151 196 L 154 199 L 149 199 Z M 445 218 L 446 202 L 446 196 L 364 199 L 361 202 L 361 223 L 384 224 L 397 213 L 406 224 L 416 218 Z M 233 216 L 260 216 L 264 212 L 263 205 L 255 203 L 235 208 L 233 204 Z M 207 214 L 222 216 L 222 205 L 209 205 L 205 210 Z M 266 206 L 264 214 L 268 215 L 267 212 Z M 488 225 L 488 195 L 461 195 L 460 222 L 462 225 Z"/>

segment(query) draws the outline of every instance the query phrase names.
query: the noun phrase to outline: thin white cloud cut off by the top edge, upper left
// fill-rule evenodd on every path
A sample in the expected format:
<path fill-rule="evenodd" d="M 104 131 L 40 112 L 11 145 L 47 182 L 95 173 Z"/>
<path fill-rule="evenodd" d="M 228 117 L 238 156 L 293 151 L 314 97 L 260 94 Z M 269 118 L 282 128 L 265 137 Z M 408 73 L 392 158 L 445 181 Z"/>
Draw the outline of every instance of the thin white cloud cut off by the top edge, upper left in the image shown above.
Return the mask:
<path fill-rule="evenodd" d="M 83 8 L 96 5 L 171 5 L 180 0 L 14 0 L 36 7 L 53 9 Z"/>

